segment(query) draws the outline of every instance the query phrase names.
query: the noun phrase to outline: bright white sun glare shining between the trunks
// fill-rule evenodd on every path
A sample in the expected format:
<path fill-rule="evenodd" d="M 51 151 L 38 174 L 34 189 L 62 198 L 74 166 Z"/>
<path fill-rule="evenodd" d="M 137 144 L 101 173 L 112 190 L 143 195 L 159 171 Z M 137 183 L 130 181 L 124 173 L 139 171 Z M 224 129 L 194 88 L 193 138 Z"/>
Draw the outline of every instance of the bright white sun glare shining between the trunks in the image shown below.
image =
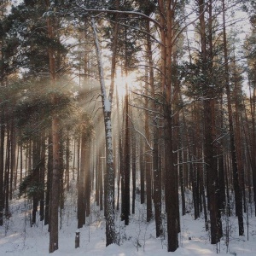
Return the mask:
<path fill-rule="evenodd" d="M 123 98 L 126 94 L 126 83 L 129 91 L 139 90 L 141 88 L 141 84 L 137 81 L 136 73 L 129 73 L 129 75 L 125 78 L 125 76 L 122 75 L 121 71 L 118 70 L 115 76 L 115 84 L 118 89 L 119 98 Z"/>

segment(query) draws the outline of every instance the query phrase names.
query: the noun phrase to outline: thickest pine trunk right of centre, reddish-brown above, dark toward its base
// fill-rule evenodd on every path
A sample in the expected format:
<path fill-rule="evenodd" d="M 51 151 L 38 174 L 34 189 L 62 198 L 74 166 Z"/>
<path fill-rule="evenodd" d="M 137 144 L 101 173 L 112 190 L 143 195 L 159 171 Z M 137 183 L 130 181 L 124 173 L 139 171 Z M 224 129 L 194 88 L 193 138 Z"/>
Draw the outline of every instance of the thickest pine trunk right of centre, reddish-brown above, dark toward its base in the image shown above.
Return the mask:
<path fill-rule="evenodd" d="M 178 189 L 177 189 L 177 168 L 174 163 L 173 154 L 173 117 L 172 117 L 172 54 L 173 54 L 173 34 L 172 21 L 175 16 L 175 1 L 159 0 L 160 8 L 160 40 L 161 40 L 161 84 L 164 115 L 164 137 L 165 137 L 165 168 L 166 168 L 166 213 L 167 213 L 167 250 L 174 252 L 178 247 Z"/>

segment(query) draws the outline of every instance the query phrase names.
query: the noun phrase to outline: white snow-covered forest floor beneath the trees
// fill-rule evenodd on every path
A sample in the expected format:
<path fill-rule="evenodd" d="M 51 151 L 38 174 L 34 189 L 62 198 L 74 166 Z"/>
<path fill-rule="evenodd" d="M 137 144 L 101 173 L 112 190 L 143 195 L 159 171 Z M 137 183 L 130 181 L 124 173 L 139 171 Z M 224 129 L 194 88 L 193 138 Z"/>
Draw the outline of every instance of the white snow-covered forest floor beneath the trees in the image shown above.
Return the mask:
<path fill-rule="evenodd" d="M 61 214 L 59 249 L 53 253 L 56 256 L 165 256 L 172 254 L 191 256 L 215 255 L 217 252 L 218 255 L 256 255 L 256 218 L 254 214 L 249 214 L 248 221 L 247 215 L 244 216 L 245 236 L 238 236 L 237 219 L 235 217 L 226 218 L 223 216 L 224 237 L 216 246 L 211 245 L 209 241 L 209 232 L 205 231 L 203 216 L 194 220 L 193 211 L 191 211 L 185 216 L 181 216 L 179 248 L 175 253 L 167 253 L 165 237 L 155 237 L 154 220 L 150 223 L 145 221 L 146 205 L 141 205 L 139 201 L 136 202 L 136 213 L 131 214 L 128 226 L 120 221 L 119 212 L 116 212 L 119 246 L 111 245 L 108 247 L 105 247 L 103 212 L 95 204 L 92 204 L 90 217 L 86 218 L 86 224 L 79 230 L 80 247 L 75 248 L 75 232 L 78 230 L 76 189 L 74 187 L 67 195 L 65 209 Z M 187 206 L 191 207 L 191 205 L 192 201 L 187 201 Z M 4 225 L 0 227 L 0 255 L 49 255 L 48 225 L 44 226 L 44 222 L 38 220 L 38 223 L 31 227 L 30 208 L 31 203 L 24 198 L 11 201 L 10 211 L 12 216 L 9 220 L 5 220 Z M 164 223 L 164 227 L 166 227 L 166 223 Z"/>

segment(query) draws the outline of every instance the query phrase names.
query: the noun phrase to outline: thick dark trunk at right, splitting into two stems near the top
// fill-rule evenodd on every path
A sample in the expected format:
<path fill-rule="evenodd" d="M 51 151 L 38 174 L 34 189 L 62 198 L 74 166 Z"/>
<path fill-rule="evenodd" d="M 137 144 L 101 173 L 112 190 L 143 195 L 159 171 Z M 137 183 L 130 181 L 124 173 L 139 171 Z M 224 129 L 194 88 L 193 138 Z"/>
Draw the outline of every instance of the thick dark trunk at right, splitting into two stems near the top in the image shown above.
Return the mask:
<path fill-rule="evenodd" d="M 200 21 L 200 36 L 201 36 L 201 61 L 202 73 L 205 80 L 202 82 L 203 86 L 203 108 L 204 108 L 204 130 L 205 130 L 205 163 L 207 172 L 207 199 L 208 209 L 210 211 L 211 222 L 211 243 L 218 243 L 222 236 L 222 224 L 220 219 L 220 212 L 218 209 L 218 162 L 217 149 L 214 139 L 216 137 L 215 127 L 215 99 L 214 90 L 210 87 L 211 82 L 209 74 L 212 73 L 212 1 L 209 3 L 209 49 L 207 51 L 207 27 L 205 20 L 205 1 L 198 1 L 199 5 L 199 21 Z"/>

